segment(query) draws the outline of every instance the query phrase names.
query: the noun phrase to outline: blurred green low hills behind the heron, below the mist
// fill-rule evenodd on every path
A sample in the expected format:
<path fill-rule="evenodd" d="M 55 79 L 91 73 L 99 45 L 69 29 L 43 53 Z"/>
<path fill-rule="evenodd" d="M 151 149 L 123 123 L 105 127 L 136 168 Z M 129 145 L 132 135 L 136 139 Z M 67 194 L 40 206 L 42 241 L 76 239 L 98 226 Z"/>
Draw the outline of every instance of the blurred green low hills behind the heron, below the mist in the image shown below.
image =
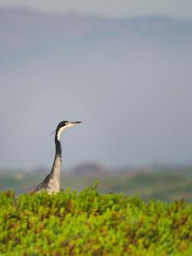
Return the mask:
<path fill-rule="evenodd" d="M 83 171 L 84 166 L 84 171 Z M 90 172 L 88 172 L 90 171 Z M 15 190 L 17 194 L 31 191 L 48 174 L 48 170 L 26 172 L 19 170 L 0 171 L 0 191 Z M 192 201 L 191 167 L 152 167 L 106 170 L 101 165 L 79 165 L 71 171 L 62 171 L 61 187 L 81 191 L 98 180 L 98 191 L 122 192 L 138 195 L 148 201 L 151 198 L 173 201 L 184 198 Z"/>

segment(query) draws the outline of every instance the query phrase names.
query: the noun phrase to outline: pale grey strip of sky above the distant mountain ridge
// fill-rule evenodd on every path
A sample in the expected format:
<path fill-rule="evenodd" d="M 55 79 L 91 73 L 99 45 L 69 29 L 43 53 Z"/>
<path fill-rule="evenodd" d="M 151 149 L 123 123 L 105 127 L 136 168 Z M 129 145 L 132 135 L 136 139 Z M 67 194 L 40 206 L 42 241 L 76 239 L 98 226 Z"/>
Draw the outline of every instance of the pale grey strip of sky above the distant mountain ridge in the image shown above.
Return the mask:
<path fill-rule="evenodd" d="M 80 12 L 117 17 L 160 14 L 192 18 L 191 0 L 0 0 L 0 5 L 22 5 L 48 12 Z"/>

